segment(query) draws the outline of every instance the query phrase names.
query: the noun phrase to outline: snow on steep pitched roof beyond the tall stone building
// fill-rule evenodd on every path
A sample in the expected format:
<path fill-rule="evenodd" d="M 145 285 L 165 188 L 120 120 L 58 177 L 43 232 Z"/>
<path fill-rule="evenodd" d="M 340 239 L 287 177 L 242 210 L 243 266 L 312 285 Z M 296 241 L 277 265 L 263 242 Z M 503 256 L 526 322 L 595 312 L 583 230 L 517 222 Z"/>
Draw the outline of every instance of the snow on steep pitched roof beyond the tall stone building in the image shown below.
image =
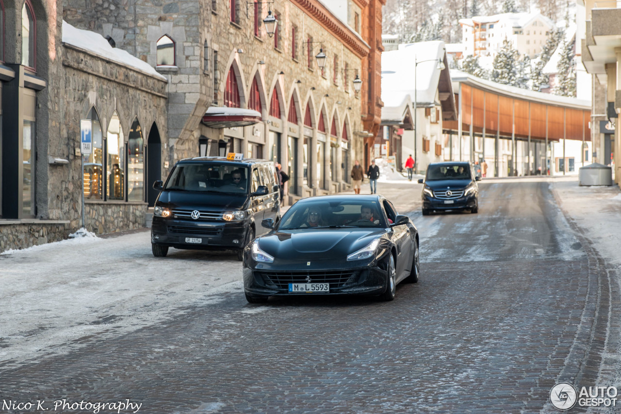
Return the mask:
<path fill-rule="evenodd" d="M 444 45 L 442 40 L 433 40 L 402 44 L 399 50 L 382 53 L 382 119 L 402 119 L 404 106 L 414 101 L 415 94 L 419 105 L 435 101 L 440 80 L 436 65 L 444 57 Z M 419 62 L 418 66 L 415 62 Z"/>

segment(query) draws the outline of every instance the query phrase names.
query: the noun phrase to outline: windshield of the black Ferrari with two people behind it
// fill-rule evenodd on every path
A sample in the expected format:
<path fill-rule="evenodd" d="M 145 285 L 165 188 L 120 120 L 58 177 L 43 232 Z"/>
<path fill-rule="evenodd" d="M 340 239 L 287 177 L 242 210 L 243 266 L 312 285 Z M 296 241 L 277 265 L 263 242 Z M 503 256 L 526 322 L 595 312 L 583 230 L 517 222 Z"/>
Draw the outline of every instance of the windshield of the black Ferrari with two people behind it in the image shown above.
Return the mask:
<path fill-rule="evenodd" d="M 347 200 L 298 202 L 289 208 L 279 230 L 320 228 L 385 228 L 378 201 Z"/>

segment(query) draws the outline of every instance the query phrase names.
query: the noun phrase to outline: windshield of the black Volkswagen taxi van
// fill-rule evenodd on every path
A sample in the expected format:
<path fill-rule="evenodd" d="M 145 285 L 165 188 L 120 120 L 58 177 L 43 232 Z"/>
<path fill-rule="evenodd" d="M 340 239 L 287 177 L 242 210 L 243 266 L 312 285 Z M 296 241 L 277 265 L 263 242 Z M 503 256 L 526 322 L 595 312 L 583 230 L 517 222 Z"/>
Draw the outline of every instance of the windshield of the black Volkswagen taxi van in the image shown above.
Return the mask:
<path fill-rule="evenodd" d="M 181 163 L 166 182 L 165 190 L 212 193 L 247 193 L 248 168 L 227 163 Z"/>

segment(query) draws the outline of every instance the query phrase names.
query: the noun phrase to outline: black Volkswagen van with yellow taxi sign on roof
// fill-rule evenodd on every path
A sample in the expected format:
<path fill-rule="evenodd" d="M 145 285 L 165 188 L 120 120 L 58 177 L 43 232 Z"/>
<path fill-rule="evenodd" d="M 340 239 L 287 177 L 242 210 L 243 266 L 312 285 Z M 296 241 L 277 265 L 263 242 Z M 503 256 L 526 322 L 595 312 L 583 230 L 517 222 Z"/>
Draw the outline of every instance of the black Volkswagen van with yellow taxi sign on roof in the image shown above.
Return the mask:
<path fill-rule="evenodd" d="M 280 194 L 274 163 L 266 160 L 227 160 L 201 157 L 179 161 L 153 208 L 151 246 L 163 257 L 176 249 L 236 250 L 258 233 L 261 221 L 280 219 Z"/>

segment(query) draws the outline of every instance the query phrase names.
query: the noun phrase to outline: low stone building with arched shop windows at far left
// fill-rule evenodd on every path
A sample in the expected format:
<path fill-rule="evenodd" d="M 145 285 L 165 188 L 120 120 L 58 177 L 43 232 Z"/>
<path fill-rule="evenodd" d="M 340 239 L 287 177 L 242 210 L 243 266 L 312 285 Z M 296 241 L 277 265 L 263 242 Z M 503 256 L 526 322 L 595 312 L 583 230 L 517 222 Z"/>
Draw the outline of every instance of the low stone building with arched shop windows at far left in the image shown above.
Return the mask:
<path fill-rule="evenodd" d="M 166 78 L 66 25 L 61 2 L 0 3 L 0 251 L 76 231 L 83 185 L 89 230 L 143 227 L 147 166 L 166 174 Z M 80 152 L 81 119 L 98 155 Z"/>

